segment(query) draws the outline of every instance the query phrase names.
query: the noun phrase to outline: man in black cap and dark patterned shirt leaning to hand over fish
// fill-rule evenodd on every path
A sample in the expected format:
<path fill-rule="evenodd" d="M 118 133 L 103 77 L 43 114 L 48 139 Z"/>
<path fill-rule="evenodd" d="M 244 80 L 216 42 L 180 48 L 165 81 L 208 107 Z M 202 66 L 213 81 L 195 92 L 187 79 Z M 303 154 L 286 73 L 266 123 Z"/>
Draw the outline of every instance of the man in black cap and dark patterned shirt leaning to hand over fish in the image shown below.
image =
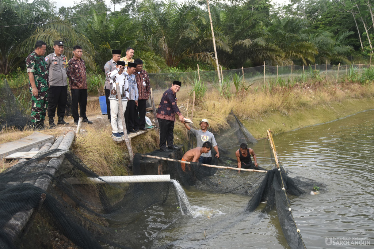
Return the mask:
<path fill-rule="evenodd" d="M 173 133 L 175 113 L 177 113 L 181 122 L 184 121 L 184 117 L 177 106 L 177 92 L 181 89 L 181 85 L 182 82 L 174 80 L 171 87 L 163 93 L 157 109 L 156 117 L 160 124 L 160 150 L 162 151 L 168 151 L 168 148 L 177 149 L 174 146 Z M 168 141 L 168 148 L 166 148 L 166 141 Z"/>

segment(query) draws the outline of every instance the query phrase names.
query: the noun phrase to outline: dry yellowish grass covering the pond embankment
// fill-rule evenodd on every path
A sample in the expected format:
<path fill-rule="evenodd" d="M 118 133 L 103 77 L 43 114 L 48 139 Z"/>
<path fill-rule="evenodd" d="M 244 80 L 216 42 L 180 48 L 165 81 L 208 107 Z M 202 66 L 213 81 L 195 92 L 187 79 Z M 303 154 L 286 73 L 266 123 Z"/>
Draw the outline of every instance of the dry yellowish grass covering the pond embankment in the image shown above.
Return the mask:
<path fill-rule="evenodd" d="M 188 117 L 191 117 L 191 88 L 184 87 L 177 94 L 178 106 L 186 116 L 187 98 L 189 98 Z M 232 91 L 233 92 L 233 91 Z M 154 93 L 156 105 L 161 98 L 159 92 Z M 199 120 L 206 118 L 214 131 L 227 127 L 225 118 L 231 110 L 248 127 L 255 138 L 266 136 L 266 129 L 275 133 L 286 132 L 300 127 L 324 123 L 359 111 L 374 108 L 374 86 L 372 84 L 356 84 L 343 82 L 340 84 L 295 84 L 292 87 L 275 87 L 271 91 L 246 92 L 230 97 L 220 96 L 214 88 L 209 88 L 202 101 L 195 104 L 193 121 L 199 127 Z M 93 125 L 83 124 L 85 130 L 73 143 L 73 152 L 86 165 L 99 175 L 127 175 L 126 167 L 130 161 L 125 143 L 116 144 L 110 137 L 111 126 L 106 116 L 99 110 L 97 96 L 88 101 L 87 114 Z M 147 114 L 151 119 L 153 115 Z M 71 118 L 67 122 L 73 124 Z M 61 135 L 76 127 L 57 127 L 41 132 L 50 135 Z M 3 131 L 1 142 L 12 141 L 27 135 L 32 130 L 22 132 Z M 186 142 L 186 128 L 180 122 L 175 123 L 175 144 Z M 147 153 L 158 148 L 155 130 L 131 139 L 134 153 Z M 3 161 L 2 168 L 13 165 Z"/>

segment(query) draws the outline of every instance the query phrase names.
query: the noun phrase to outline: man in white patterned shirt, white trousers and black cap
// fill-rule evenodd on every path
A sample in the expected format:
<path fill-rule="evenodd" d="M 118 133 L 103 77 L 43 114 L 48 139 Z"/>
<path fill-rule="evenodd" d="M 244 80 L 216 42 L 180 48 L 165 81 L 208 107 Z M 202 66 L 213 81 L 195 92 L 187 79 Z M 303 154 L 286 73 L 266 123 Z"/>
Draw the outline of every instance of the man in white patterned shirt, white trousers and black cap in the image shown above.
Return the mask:
<path fill-rule="evenodd" d="M 118 112 L 119 102 L 118 102 L 118 93 L 116 90 L 116 83 L 119 83 L 120 97 L 122 99 L 122 108 L 123 111 L 126 110 L 127 101 L 129 98 L 129 84 L 126 80 L 123 70 L 125 69 L 125 62 L 117 61 L 116 69 L 111 73 L 108 73 L 110 80 L 110 95 L 108 97 L 110 102 L 110 123 L 112 125 L 112 136 L 120 138 L 124 136 L 122 118 Z"/>

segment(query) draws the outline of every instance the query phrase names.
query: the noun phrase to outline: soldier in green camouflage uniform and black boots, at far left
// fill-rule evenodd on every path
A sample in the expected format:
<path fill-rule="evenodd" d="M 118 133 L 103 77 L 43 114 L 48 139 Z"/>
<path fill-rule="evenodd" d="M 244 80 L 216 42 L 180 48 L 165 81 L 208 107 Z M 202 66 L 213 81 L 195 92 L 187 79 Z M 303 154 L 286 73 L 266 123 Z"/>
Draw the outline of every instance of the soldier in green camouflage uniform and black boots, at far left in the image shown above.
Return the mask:
<path fill-rule="evenodd" d="M 36 129 L 44 128 L 48 107 L 48 70 L 44 54 L 47 44 L 37 41 L 35 50 L 26 58 L 26 68 L 31 93 L 31 122 Z"/>

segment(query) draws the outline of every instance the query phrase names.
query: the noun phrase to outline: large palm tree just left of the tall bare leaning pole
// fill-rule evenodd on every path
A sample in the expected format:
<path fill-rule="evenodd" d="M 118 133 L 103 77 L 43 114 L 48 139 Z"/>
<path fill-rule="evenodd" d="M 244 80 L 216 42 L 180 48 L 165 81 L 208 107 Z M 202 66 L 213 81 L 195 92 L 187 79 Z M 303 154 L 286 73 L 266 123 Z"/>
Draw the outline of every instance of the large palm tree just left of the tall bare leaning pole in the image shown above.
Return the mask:
<path fill-rule="evenodd" d="M 204 51 L 212 39 L 202 31 L 209 28 L 209 22 L 195 1 L 178 4 L 168 0 L 159 5 L 145 0 L 140 13 L 145 42 L 165 59 L 166 65 L 177 67 L 184 58 L 214 63 L 212 54 Z"/>

